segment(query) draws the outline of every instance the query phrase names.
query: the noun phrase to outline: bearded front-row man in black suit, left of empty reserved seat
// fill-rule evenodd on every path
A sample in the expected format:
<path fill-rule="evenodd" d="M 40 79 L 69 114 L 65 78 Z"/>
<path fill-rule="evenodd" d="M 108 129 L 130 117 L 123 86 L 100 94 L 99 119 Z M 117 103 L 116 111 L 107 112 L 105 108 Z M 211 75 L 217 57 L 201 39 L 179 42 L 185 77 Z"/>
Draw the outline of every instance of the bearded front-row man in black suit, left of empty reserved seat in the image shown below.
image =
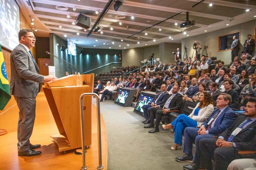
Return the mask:
<path fill-rule="evenodd" d="M 165 115 L 166 112 L 180 109 L 181 103 L 182 103 L 182 95 L 180 95 L 178 91 L 179 91 L 179 86 L 174 85 L 173 93 L 168 96 L 166 102 L 161 105 L 153 106 L 150 109 L 150 124 L 148 124 L 147 126 L 144 126 L 144 128 L 154 128 L 148 131 L 149 133 L 159 132 L 159 124 L 160 124 L 161 117 Z M 156 126 L 154 126 L 155 117 L 156 117 L 156 122 L 155 122 Z"/>

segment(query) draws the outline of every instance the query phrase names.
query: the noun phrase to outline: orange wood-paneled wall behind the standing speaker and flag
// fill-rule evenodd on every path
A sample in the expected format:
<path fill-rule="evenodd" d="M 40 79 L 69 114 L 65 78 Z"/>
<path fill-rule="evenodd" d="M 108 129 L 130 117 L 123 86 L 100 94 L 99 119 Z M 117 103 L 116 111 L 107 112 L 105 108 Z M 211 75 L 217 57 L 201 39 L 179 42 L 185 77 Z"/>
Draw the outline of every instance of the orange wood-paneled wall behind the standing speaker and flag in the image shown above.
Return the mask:
<path fill-rule="evenodd" d="M 30 23 L 26 20 L 26 18 L 24 17 L 24 15 L 22 14 L 21 10 L 19 10 L 19 16 L 20 16 L 20 29 L 31 29 Z M 30 49 L 33 57 L 36 60 L 36 51 L 35 51 L 35 47 Z M 11 77 L 11 68 L 10 68 L 10 54 L 12 51 L 2 47 L 2 52 L 4 55 L 4 62 L 5 62 L 5 66 L 6 66 L 6 70 L 7 70 L 7 77 L 8 80 L 10 82 L 10 77 Z M 13 105 L 16 104 L 16 101 L 14 99 L 14 97 L 12 96 L 12 98 L 10 99 L 10 101 L 7 103 L 7 105 L 5 106 L 3 111 L 0 111 L 0 114 L 4 111 L 6 111 L 8 108 L 12 107 Z"/>

